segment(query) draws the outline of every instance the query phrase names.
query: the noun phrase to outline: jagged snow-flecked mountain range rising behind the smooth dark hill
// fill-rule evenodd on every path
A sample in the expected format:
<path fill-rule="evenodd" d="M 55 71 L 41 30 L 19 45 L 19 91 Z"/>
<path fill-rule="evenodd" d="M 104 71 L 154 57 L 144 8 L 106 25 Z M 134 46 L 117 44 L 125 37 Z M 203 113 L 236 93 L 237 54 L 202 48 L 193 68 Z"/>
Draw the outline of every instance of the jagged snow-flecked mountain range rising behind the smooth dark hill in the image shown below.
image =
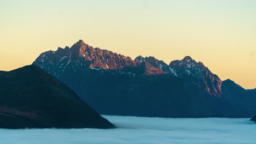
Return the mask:
<path fill-rule="evenodd" d="M 235 95 L 229 83 L 189 56 L 169 65 L 154 57 L 138 56 L 132 60 L 79 40 L 71 48 L 43 52 L 33 64 L 66 83 L 101 114 L 150 117 L 255 114 L 255 91 L 243 89 L 243 94 Z"/>

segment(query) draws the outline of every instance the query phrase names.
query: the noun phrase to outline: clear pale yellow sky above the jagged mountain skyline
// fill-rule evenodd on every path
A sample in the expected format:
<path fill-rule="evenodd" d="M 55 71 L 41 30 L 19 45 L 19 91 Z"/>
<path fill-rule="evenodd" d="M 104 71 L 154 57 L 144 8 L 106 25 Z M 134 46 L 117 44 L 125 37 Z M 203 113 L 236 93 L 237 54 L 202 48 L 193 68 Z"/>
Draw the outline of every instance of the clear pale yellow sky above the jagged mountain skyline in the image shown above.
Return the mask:
<path fill-rule="evenodd" d="M 256 87 L 256 1 L 0 0 L 0 70 L 85 43 L 167 64 L 191 56 L 220 79 Z"/>

